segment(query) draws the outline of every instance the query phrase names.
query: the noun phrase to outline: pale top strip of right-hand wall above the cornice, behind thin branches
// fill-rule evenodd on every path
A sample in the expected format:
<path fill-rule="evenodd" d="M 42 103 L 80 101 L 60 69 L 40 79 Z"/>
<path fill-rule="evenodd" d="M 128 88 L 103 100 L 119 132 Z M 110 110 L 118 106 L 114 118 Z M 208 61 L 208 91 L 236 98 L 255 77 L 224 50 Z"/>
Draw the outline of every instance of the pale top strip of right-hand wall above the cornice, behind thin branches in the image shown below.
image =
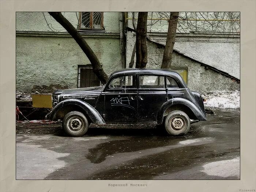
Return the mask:
<path fill-rule="evenodd" d="M 128 27 L 133 29 L 132 12 L 126 12 L 125 16 L 127 18 L 126 20 Z M 215 15 L 214 12 L 179 12 L 179 16 L 180 18 L 178 20 L 176 33 L 190 33 L 191 31 L 209 32 L 212 29 L 215 30 L 215 32 L 217 33 L 240 33 L 240 27 L 238 26 L 238 22 L 227 21 L 228 18 L 227 15 L 225 15 L 225 12 L 219 12 L 219 14 L 217 15 Z M 233 16 L 238 16 L 238 12 Z M 169 17 L 170 14 L 168 12 L 166 12 L 165 14 L 160 14 L 159 12 L 148 12 L 147 31 L 150 33 L 167 33 L 169 22 L 166 20 L 166 18 L 169 19 Z M 138 12 L 135 12 L 135 24 L 137 24 L 137 18 Z M 182 18 L 187 18 L 188 20 L 182 20 Z M 205 19 L 209 20 L 206 21 Z M 219 22 L 219 24 L 217 25 L 216 21 L 211 21 L 212 19 L 225 20 L 225 22 Z M 212 25 L 210 24 L 211 22 Z M 233 25 L 233 27 L 229 27 L 230 25 Z"/>

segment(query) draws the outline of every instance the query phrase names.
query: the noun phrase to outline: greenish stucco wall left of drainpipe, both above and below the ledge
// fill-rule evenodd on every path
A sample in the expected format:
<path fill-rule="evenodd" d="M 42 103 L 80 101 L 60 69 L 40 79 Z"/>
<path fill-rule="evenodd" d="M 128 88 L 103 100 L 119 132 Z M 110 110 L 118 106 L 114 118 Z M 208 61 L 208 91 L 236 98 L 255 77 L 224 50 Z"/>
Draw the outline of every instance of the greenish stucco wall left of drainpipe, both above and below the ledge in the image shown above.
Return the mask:
<path fill-rule="evenodd" d="M 74 27 L 75 12 L 62 13 Z M 79 13 L 77 13 L 79 15 Z M 55 34 L 46 24 L 50 23 Z M 16 91 L 52 93 L 78 85 L 78 65 L 90 61 L 75 40 L 47 12 L 16 13 Z M 103 33 L 81 33 L 106 74 L 121 69 L 120 13 L 104 12 Z"/>

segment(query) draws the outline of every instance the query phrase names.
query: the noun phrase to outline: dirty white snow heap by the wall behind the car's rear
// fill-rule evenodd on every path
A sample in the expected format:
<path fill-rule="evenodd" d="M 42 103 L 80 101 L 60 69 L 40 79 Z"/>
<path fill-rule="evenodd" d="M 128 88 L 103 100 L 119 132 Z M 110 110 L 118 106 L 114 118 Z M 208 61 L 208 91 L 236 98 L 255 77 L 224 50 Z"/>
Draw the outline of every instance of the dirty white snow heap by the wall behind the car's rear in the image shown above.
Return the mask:
<path fill-rule="evenodd" d="M 202 94 L 205 107 L 240 109 L 240 91 L 214 91 Z"/>

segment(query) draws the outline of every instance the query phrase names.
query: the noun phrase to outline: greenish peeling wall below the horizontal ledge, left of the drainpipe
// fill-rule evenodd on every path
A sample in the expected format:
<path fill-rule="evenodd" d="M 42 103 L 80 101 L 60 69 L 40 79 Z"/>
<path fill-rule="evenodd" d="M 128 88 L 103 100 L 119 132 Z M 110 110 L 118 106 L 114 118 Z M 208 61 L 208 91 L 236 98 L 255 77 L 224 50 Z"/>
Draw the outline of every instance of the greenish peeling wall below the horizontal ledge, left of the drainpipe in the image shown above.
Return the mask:
<path fill-rule="evenodd" d="M 86 41 L 108 75 L 122 68 L 119 38 Z M 85 64 L 90 61 L 71 37 L 16 36 L 16 91 L 76 88 L 78 65 Z"/>

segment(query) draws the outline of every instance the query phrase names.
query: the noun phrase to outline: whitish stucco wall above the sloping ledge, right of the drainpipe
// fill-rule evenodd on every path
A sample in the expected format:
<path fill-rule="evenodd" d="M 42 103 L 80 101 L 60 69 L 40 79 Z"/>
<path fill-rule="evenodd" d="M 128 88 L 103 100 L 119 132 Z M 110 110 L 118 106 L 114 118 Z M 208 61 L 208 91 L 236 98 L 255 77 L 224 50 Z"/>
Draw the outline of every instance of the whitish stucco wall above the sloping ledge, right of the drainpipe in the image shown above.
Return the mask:
<path fill-rule="evenodd" d="M 184 16 L 184 14 L 184 12 L 180 12 L 179 15 Z M 191 15 L 191 18 L 195 18 L 193 12 L 187 14 L 188 18 Z M 208 19 L 215 19 L 215 15 L 212 14 L 213 12 L 207 13 Z M 135 18 L 138 18 L 138 12 L 135 12 Z M 157 18 L 159 18 L 158 13 L 148 12 L 147 35 L 160 43 L 165 44 L 168 22 L 167 20 L 154 20 Z M 197 21 L 197 28 L 192 27 L 195 26 L 196 21 L 190 20 L 188 25 L 187 22 L 181 22 L 181 20 L 179 20 L 174 49 L 183 53 L 185 56 L 210 65 L 211 67 L 215 67 L 240 79 L 240 29 L 229 27 L 230 23 L 225 21 L 221 22 L 222 25 L 220 25 L 218 29 L 214 28 L 213 31 L 211 31 L 212 28 L 207 26 L 208 22 L 206 22 L 200 14 L 197 14 L 197 19 L 202 19 Z M 221 14 L 217 19 L 222 19 Z M 127 44 L 134 44 L 135 36 L 133 36 L 133 34 L 135 33 L 132 32 L 133 25 L 131 12 L 128 12 L 126 21 Z M 137 23 L 137 20 L 135 20 L 135 23 Z M 154 25 L 151 25 L 152 23 L 154 23 Z M 184 25 L 182 25 L 182 23 Z M 236 27 L 238 28 L 238 26 Z M 151 43 L 152 42 L 149 42 L 148 45 Z M 127 63 L 130 62 L 132 49 L 133 45 L 127 45 Z M 161 52 L 161 54 L 163 54 L 163 52 Z M 148 54 L 148 57 L 151 56 Z M 155 59 L 158 60 L 157 58 Z"/>

